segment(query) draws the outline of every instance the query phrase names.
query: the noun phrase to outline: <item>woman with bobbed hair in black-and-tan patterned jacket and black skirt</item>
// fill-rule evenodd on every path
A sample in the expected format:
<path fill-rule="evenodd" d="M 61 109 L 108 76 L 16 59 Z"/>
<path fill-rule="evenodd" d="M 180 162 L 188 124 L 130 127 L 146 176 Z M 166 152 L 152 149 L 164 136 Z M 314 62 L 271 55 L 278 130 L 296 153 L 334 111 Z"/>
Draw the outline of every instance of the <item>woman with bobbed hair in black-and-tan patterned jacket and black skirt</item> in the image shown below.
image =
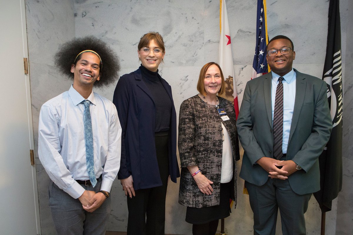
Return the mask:
<path fill-rule="evenodd" d="M 229 198 L 236 205 L 239 142 L 234 106 L 217 96 L 225 91 L 217 63 L 202 67 L 197 90 L 180 106 L 179 203 L 187 206 L 193 235 L 214 235 L 219 219 L 229 216 Z"/>

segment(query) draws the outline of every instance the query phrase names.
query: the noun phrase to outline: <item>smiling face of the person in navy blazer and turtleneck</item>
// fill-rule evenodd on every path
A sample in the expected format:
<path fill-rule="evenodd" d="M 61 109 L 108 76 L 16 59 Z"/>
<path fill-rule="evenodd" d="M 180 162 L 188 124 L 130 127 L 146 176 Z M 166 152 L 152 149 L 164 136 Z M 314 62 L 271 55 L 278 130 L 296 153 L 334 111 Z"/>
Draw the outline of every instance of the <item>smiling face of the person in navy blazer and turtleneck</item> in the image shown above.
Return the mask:
<path fill-rule="evenodd" d="M 153 53 L 154 49 L 156 49 L 156 48 L 161 49 L 161 47 L 159 47 L 153 39 L 150 41 L 148 48 L 150 49 L 150 52 L 148 55 L 144 55 L 141 50 L 138 50 L 138 57 L 140 58 L 142 65 L 146 69 L 148 69 L 152 72 L 156 72 L 159 64 L 161 63 L 161 61 L 164 58 L 165 52 L 162 51 L 161 55 L 155 55 Z"/>

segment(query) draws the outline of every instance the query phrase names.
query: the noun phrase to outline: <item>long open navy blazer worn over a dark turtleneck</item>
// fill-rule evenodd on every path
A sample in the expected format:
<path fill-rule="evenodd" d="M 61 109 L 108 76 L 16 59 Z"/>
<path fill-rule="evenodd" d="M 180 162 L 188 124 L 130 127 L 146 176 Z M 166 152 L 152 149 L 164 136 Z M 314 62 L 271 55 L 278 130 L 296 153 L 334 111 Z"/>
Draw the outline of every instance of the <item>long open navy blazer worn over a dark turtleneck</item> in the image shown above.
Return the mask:
<path fill-rule="evenodd" d="M 169 125 L 169 174 L 177 183 L 180 177 L 177 160 L 177 114 L 175 112 L 172 88 L 161 78 L 172 101 Z M 125 74 L 116 84 L 113 103 L 118 110 L 122 128 L 121 161 L 118 179 L 133 178 L 134 190 L 162 185 L 155 147 L 156 106 L 152 95 L 142 80 L 141 70 Z"/>

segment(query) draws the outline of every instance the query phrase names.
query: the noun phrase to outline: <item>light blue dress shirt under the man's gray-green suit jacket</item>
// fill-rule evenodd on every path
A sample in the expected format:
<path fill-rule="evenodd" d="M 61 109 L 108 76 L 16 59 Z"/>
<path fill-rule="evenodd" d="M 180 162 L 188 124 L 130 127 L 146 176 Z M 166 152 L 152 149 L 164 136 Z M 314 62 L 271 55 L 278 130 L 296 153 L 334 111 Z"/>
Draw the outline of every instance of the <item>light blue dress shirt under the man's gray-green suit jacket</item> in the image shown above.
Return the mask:
<path fill-rule="evenodd" d="M 276 88 L 278 84 L 278 79 L 280 75 L 272 73 L 272 84 L 271 84 L 271 102 L 272 102 L 272 122 L 273 114 L 275 111 L 275 99 L 276 99 Z M 291 72 L 283 76 L 283 142 L 282 142 L 282 152 L 287 153 L 289 132 L 291 131 L 294 101 L 295 101 L 295 80 L 297 80 L 297 75 L 295 74 L 293 68 Z"/>

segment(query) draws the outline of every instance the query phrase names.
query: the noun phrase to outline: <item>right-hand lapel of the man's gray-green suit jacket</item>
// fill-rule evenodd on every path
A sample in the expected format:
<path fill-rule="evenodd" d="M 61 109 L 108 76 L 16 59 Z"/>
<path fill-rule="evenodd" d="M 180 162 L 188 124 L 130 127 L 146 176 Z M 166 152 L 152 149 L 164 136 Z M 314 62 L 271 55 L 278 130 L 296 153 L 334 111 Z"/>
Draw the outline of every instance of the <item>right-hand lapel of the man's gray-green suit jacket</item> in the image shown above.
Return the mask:
<path fill-rule="evenodd" d="M 301 111 L 301 107 L 303 107 L 305 91 L 306 91 L 306 81 L 305 76 L 302 73 L 299 73 L 295 70 L 296 73 L 296 81 L 295 81 L 295 101 L 294 101 L 294 110 L 293 110 L 293 117 L 292 117 L 292 124 L 291 124 L 291 131 L 289 132 L 289 140 L 288 144 L 291 142 L 291 138 L 297 127 L 299 115 Z"/>

